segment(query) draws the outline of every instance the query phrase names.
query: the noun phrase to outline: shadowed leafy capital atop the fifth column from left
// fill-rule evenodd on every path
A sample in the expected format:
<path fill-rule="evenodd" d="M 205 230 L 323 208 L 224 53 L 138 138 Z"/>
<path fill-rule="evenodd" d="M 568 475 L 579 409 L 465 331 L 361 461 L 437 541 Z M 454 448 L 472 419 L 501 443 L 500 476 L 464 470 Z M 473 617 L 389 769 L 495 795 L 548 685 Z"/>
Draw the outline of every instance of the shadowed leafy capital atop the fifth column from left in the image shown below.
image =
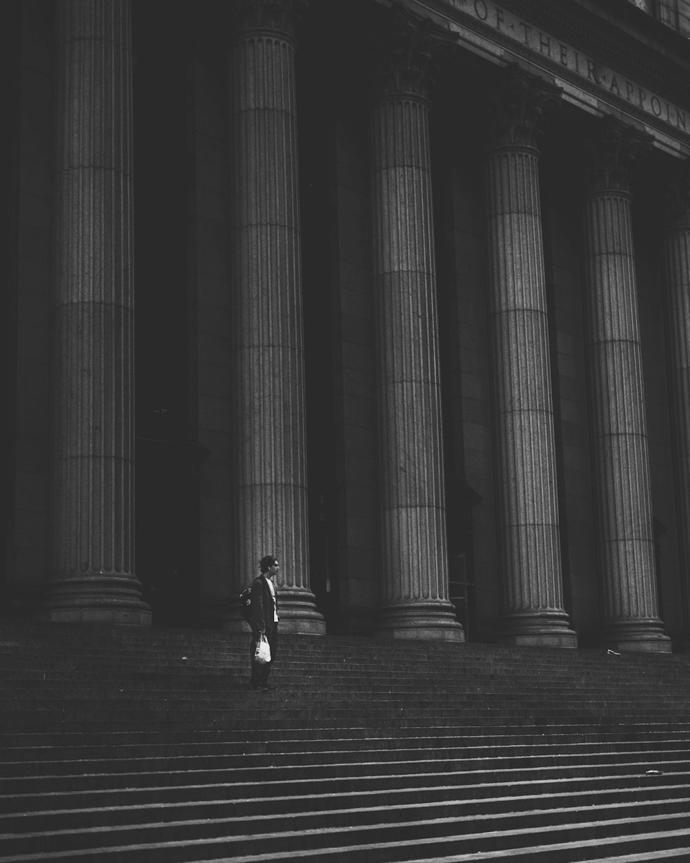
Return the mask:
<path fill-rule="evenodd" d="M 630 192 L 630 178 L 649 154 L 652 137 L 606 115 L 584 141 L 583 159 L 590 192 Z"/>

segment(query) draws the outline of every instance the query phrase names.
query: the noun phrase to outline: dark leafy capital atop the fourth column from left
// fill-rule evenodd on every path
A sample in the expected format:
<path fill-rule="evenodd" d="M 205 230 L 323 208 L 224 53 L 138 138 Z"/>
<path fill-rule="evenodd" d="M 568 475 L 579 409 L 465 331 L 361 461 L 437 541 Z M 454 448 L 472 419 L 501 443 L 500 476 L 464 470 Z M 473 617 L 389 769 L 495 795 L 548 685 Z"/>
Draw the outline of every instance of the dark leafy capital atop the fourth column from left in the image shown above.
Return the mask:
<path fill-rule="evenodd" d="M 561 90 L 511 63 L 502 70 L 491 101 L 490 147 L 536 148 L 538 127 L 561 103 Z"/>

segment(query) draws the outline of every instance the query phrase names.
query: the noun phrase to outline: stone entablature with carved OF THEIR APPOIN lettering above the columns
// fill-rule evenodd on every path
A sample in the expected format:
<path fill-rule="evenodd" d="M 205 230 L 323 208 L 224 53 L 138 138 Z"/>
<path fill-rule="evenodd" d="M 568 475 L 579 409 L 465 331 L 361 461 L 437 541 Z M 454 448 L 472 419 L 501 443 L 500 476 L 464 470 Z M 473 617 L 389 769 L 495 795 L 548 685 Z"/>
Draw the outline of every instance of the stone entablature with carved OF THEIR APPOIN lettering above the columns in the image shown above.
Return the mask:
<path fill-rule="evenodd" d="M 565 102 L 636 126 L 663 152 L 690 154 L 690 44 L 642 11 L 632 9 L 652 35 L 658 30 L 656 44 L 633 28 L 609 34 L 603 14 L 593 28 L 598 13 L 583 3 L 559 4 L 558 12 L 517 0 L 406 0 L 405 6 L 447 26 L 458 49 L 499 65 L 517 63 L 560 88 Z"/>

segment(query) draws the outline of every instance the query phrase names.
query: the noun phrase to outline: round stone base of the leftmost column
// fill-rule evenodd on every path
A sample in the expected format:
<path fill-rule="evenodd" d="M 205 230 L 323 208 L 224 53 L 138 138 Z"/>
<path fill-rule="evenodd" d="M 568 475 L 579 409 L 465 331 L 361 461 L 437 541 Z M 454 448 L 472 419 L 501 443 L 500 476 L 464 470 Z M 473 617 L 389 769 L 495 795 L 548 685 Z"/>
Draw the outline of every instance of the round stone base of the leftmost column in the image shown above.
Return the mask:
<path fill-rule="evenodd" d="M 53 623 L 151 625 L 151 608 L 133 576 L 78 576 L 47 585 L 34 620 Z"/>

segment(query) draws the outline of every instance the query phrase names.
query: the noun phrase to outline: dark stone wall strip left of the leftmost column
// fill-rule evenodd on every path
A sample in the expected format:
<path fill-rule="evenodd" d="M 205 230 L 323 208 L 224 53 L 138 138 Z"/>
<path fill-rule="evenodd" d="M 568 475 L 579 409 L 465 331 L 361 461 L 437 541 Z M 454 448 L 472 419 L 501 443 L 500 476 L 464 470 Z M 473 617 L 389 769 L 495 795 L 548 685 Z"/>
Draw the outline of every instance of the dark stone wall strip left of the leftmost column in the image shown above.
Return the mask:
<path fill-rule="evenodd" d="M 11 614 L 29 614 L 48 569 L 49 314 L 53 211 L 51 3 L 22 3 L 16 44 L 17 135 L 10 232 L 7 588 Z M 16 324 L 16 329 L 12 327 Z M 13 332 L 14 329 L 14 332 Z M 15 381 L 11 378 L 15 377 Z M 16 382 L 16 386 L 13 385 Z M 12 410 L 11 405 L 15 406 Z"/>

